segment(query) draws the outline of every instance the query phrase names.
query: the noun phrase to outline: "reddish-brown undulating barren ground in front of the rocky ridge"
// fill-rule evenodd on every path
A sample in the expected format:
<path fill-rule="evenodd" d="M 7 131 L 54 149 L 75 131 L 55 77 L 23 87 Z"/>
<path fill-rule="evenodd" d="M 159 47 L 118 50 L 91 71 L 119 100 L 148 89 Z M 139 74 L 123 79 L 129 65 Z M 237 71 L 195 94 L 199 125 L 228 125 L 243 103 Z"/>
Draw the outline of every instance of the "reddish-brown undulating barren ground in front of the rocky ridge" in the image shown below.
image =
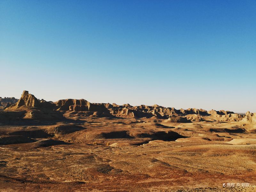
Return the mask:
<path fill-rule="evenodd" d="M 0 132 L 19 138 L 0 146 L 0 191 L 256 191 L 256 134 L 235 122 L 86 119 Z"/>

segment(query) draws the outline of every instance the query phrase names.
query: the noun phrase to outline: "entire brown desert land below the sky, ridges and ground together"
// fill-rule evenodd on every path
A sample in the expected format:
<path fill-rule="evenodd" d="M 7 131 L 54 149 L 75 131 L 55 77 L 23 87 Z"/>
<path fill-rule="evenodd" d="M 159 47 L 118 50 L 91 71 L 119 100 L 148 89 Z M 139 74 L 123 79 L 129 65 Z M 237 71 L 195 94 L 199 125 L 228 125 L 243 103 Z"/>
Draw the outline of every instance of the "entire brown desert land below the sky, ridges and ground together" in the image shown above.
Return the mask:
<path fill-rule="evenodd" d="M 27 91 L 0 109 L 0 191 L 256 191 L 256 113 Z"/>

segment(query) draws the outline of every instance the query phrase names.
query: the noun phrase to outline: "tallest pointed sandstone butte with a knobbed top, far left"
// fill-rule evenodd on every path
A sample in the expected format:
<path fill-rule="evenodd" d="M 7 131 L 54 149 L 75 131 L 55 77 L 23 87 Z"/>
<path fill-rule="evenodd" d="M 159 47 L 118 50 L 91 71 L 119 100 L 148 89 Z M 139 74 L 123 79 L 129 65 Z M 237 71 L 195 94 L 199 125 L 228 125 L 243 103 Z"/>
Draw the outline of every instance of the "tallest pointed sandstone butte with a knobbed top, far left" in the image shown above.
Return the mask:
<path fill-rule="evenodd" d="M 19 108 L 23 105 L 30 107 L 39 107 L 39 101 L 32 94 L 29 94 L 28 91 L 23 91 L 20 99 L 18 100 L 16 107 Z"/>

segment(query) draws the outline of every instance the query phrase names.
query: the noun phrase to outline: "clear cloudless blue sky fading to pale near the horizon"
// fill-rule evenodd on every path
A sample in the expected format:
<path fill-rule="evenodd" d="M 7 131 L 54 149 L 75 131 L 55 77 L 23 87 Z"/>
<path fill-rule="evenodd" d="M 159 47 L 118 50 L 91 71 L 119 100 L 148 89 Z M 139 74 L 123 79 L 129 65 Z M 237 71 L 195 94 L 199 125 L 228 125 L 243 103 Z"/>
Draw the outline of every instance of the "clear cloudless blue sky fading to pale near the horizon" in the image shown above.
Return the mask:
<path fill-rule="evenodd" d="M 256 112 L 255 0 L 0 1 L 0 96 Z"/>

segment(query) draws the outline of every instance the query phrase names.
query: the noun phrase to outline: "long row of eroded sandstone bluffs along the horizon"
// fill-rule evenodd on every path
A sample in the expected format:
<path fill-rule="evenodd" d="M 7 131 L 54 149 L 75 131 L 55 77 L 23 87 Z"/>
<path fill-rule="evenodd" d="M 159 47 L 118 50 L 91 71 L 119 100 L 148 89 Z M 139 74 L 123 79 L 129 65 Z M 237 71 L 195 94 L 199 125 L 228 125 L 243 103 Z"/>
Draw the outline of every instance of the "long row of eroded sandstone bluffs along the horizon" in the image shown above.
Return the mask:
<path fill-rule="evenodd" d="M 15 98 L 14 98 L 15 99 Z M 12 98 L 12 100 L 14 100 Z M 12 113 L 11 113 L 12 112 Z M 16 112 L 16 113 L 14 113 Z M 0 116 L 9 115 L 15 118 L 66 118 L 81 119 L 86 117 L 110 118 L 153 118 L 166 119 L 170 122 L 191 121 L 240 121 L 244 116 L 231 111 L 206 111 L 204 109 L 165 108 L 157 104 L 152 106 L 130 104 L 117 105 L 116 103 L 90 103 L 84 99 L 64 99 L 56 102 L 38 100 L 34 95 L 23 91 L 16 104 L 8 105 Z M 13 115 L 15 114 L 15 115 Z M 8 116 L 7 115 L 7 116 Z"/>

